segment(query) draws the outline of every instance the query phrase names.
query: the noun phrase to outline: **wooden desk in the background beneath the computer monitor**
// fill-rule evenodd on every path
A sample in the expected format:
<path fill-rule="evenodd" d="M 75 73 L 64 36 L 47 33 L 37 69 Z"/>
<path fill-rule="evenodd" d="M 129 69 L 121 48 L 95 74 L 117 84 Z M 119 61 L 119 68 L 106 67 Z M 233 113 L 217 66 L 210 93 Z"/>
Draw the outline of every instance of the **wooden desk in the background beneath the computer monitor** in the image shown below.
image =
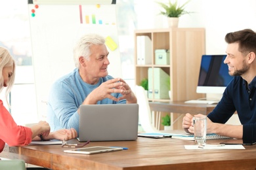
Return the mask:
<path fill-rule="evenodd" d="M 208 114 L 216 105 L 184 103 L 184 101 L 150 102 L 150 109 L 160 112 Z"/>

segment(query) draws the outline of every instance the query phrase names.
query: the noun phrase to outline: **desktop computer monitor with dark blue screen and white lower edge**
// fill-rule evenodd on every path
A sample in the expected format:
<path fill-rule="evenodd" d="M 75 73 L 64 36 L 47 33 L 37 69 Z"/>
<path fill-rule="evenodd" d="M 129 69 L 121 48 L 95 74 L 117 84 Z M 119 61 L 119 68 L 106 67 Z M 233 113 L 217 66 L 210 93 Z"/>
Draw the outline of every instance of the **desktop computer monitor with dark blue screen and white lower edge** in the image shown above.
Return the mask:
<path fill-rule="evenodd" d="M 224 64 L 226 55 L 203 55 L 200 66 L 197 93 L 223 94 L 232 80 L 228 74 L 228 65 Z"/>

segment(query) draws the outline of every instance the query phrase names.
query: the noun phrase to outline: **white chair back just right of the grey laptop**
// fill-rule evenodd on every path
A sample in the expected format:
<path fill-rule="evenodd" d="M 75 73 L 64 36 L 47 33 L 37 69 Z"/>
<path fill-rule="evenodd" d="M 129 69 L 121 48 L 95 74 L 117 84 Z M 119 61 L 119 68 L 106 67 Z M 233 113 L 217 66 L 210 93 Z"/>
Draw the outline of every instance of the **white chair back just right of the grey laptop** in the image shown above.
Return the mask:
<path fill-rule="evenodd" d="M 148 103 L 148 96 L 142 86 L 135 86 L 135 95 L 139 105 L 139 121 L 145 133 L 158 132 L 152 124 L 152 112 Z"/>

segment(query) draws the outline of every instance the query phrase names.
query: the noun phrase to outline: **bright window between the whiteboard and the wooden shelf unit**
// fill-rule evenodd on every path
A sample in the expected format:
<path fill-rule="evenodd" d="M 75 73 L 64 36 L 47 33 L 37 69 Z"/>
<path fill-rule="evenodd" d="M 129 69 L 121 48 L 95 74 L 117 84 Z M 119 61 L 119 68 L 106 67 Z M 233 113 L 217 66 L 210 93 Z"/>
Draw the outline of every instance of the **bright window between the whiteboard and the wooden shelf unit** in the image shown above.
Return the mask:
<path fill-rule="evenodd" d="M 133 88 L 135 86 L 134 30 L 161 26 L 162 16 L 158 16 L 159 5 L 153 0 L 118 0 L 116 5 L 122 75 Z M 145 20 L 145 18 L 151 19 Z"/>

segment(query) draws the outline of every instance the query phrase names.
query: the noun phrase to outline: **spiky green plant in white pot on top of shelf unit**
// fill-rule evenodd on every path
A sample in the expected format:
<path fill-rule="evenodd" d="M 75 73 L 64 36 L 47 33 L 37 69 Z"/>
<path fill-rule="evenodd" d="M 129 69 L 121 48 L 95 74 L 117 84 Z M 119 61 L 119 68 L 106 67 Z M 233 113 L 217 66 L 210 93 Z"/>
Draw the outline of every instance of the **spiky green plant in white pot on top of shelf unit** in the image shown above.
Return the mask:
<path fill-rule="evenodd" d="M 168 18 L 169 27 L 178 27 L 179 17 L 184 14 L 191 13 L 184 10 L 184 7 L 188 2 L 189 1 L 186 1 L 186 3 L 181 6 L 178 5 L 177 0 L 175 0 L 174 3 L 171 3 L 171 1 L 169 0 L 168 4 L 157 2 L 163 8 L 163 11 L 161 11 L 160 14 L 163 14 Z"/>

